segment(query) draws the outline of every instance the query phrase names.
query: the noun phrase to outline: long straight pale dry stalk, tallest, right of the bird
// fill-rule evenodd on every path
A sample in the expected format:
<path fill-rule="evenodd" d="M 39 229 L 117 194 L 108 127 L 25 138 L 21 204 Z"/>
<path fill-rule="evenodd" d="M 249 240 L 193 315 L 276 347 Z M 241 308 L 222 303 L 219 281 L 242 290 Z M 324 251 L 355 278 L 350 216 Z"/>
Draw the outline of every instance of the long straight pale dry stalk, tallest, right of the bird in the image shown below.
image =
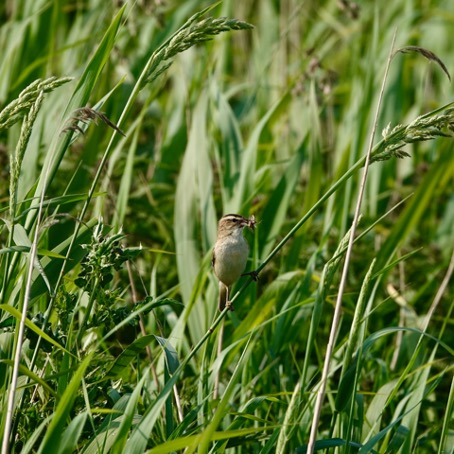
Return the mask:
<path fill-rule="evenodd" d="M 351 234 L 350 234 L 350 238 L 348 240 L 347 252 L 345 253 L 345 262 L 344 262 L 344 267 L 342 270 L 341 280 L 339 283 L 339 292 L 337 294 L 336 305 L 335 305 L 334 315 L 333 315 L 333 322 L 331 324 L 331 331 L 330 331 L 330 335 L 329 335 L 328 345 L 326 348 L 325 361 L 323 363 L 323 371 L 322 371 L 322 378 L 320 380 L 320 388 L 318 390 L 317 399 L 315 401 L 314 416 L 312 418 L 311 432 L 309 435 L 309 443 L 308 443 L 308 447 L 307 447 L 307 452 L 309 454 L 312 454 L 315 449 L 315 441 L 317 438 L 317 431 L 318 431 L 318 425 L 320 422 L 320 415 L 321 415 L 321 411 L 322 411 L 323 400 L 325 398 L 326 384 L 328 381 L 328 374 L 329 374 L 331 359 L 332 359 L 333 351 L 334 351 L 334 343 L 336 340 L 337 330 L 339 328 L 341 309 L 342 309 L 342 298 L 344 296 L 344 290 L 345 290 L 345 286 L 347 283 L 347 274 L 348 274 L 348 270 L 349 270 L 350 258 L 351 258 L 352 249 L 353 249 L 353 241 L 355 238 L 356 226 L 358 224 L 358 219 L 360 216 L 361 204 L 362 204 L 363 197 L 364 197 L 364 190 L 365 190 L 365 186 L 366 186 L 366 179 L 367 179 L 367 173 L 369 170 L 369 164 L 371 161 L 375 131 L 377 130 L 378 115 L 380 113 L 380 108 L 381 108 L 381 105 L 383 102 L 383 95 L 384 95 L 384 91 L 385 91 L 386 80 L 388 78 L 389 68 L 391 66 L 391 61 L 392 61 L 392 58 L 394 55 L 393 50 L 394 50 L 395 40 L 396 40 L 396 32 L 394 32 L 394 36 L 393 36 L 392 43 L 391 43 L 391 51 L 389 53 L 388 60 L 386 62 L 385 75 L 383 77 L 380 95 L 378 98 L 377 109 L 375 111 L 374 124 L 373 124 L 372 131 L 370 134 L 369 146 L 368 146 L 367 154 L 366 154 L 366 161 L 364 163 L 364 171 L 363 171 L 363 175 L 362 175 L 361 182 L 360 182 L 358 199 L 357 199 L 356 208 L 355 208 L 355 214 L 354 214 L 353 221 L 352 221 Z"/>

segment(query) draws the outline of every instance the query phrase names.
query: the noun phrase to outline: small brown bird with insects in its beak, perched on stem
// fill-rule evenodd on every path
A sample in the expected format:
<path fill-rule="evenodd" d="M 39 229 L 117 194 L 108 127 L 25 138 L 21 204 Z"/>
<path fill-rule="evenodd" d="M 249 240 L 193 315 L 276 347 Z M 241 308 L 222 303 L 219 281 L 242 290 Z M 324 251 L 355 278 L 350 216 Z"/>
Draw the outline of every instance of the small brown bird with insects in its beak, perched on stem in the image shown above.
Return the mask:
<path fill-rule="evenodd" d="M 255 228 L 255 218 L 244 218 L 239 214 L 226 214 L 218 223 L 218 236 L 213 250 L 212 265 L 219 279 L 219 310 L 227 306 L 233 310 L 229 300 L 232 284 L 246 268 L 249 245 L 243 236 L 244 227 Z"/>

